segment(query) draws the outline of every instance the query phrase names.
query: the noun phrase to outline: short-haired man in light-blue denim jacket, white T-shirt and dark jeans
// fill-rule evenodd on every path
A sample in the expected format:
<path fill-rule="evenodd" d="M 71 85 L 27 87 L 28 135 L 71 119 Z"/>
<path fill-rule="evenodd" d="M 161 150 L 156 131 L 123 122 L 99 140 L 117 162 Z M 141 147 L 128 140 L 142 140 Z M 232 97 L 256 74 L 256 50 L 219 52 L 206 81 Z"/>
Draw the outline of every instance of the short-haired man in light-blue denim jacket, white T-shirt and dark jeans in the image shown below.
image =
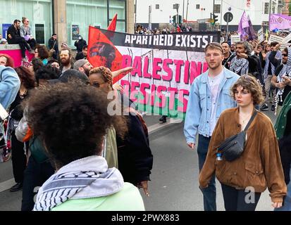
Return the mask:
<path fill-rule="evenodd" d="M 234 72 L 223 68 L 223 49 L 218 43 L 210 43 L 205 49 L 205 60 L 209 70 L 197 77 L 190 89 L 184 134 L 187 145 L 194 149 L 197 132 L 199 134 L 197 153 L 199 171 L 206 160 L 207 150 L 216 122 L 228 108 L 236 106 L 230 96 L 230 88 L 239 78 Z M 215 176 L 208 188 L 202 191 L 204 210 L 216 211 Z"/>

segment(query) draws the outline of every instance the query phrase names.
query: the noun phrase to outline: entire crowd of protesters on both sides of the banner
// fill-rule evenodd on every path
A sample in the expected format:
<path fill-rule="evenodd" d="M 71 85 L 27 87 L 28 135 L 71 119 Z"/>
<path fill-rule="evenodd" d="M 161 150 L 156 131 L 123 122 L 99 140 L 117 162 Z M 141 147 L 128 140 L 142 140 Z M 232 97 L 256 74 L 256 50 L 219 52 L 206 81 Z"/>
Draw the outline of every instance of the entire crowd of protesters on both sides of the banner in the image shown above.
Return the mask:
<path fill-rule="evenodd" d="M 1 160 L 12 155 L 16 184 L 10 191 L 23 189 L 21 210 L 144 210 L 137 188 L 149 195 L 153 155 L 147 127 L 122 88 L 113 85 L 113 77 L 132 68 L 93 68 L 82 37 L 75 42 L 76 58 L 66 43 L 58 50 L 56 34 L 47 49 L 36 43 L 28 23 L 23 18 L 20 28 L 14 21 L 8 43 L 33 53 L 32 61 L 23 57 L 23 65 L 14 68 L 11 56 L 0 54 L 0 103 L 9 113 L 0 127 L 6 134 L 0 141 L 9 143 L 2 145 Z M 180 30 L 138 25 L 136 33 Z M 216 210 L 215 175 L 225 210 L 255 210 L 266 187 L 276 210 L 290 207 L 290 54 L 290 47 L 280 49 L 280 43 L 267 40 L 206 46 L 209 70 L 194 79 L 184 127 L 187 146 L 194 149 L 197 143 L 204 210 Z M 122 115 L 109 115 L 113 102 Z M 275 129 L 259 112 L 269 105 L 278 116 Z M 218 146 L 244 129 L 240 158 L 223 160 Z M 252 204 L 245 202 L 249 186 L 254 187 Z"/>

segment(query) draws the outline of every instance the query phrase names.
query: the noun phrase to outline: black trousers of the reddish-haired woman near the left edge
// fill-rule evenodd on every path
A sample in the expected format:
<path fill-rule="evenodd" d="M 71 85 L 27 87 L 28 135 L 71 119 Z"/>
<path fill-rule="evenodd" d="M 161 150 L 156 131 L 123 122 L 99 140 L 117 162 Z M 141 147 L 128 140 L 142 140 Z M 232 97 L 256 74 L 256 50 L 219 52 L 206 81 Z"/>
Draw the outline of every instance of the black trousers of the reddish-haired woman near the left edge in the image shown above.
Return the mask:
<path fill-rule="evenodd" d="M 23 172 L 26 167 L 24 143 L 16 139 L 15 131 L 11 134 L 12 167 L 16 183 L 23 182 Z"/>

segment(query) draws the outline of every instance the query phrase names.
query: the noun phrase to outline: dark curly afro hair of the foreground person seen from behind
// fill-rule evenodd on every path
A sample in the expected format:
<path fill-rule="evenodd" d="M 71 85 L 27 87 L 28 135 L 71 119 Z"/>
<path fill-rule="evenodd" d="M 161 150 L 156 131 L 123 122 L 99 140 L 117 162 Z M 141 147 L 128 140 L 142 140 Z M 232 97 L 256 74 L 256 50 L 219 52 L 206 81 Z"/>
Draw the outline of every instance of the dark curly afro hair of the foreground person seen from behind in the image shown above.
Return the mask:
<path fill-rule="evenodd" d="M 115 127 L 123 136 L 128 131 L 124 117 L 107 113 L 106 94 L 80 82 L 35 89 L 24 104 L 28 124 L 58 168 L 100 155 L 107 129 Z"/>

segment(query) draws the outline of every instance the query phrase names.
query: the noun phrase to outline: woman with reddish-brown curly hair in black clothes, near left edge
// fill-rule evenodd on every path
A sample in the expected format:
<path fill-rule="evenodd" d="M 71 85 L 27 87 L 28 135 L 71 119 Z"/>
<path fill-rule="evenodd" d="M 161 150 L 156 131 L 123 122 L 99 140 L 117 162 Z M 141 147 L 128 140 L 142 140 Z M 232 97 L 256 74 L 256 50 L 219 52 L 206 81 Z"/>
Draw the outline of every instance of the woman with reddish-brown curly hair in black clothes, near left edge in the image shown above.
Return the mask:
<path fill-rule="evenodd" d="M 15 130 L 18 122 L 23 117 L 22 101 L 27 98 L 31 89 L 35 88 L 35 77 L 28 68 L 20 66 L 16 68 L 20 79 L 20 90 L 15 101 L 9 109 L 8 131 L 7 136 L 11 139 L 12 167 L 16 184 L 10 188 L 10 191 L 18 191 L 23 186 L 23 172 L 26 167 L 27 158 L 25 155 L 25 144 L 16 139 Z"/>

